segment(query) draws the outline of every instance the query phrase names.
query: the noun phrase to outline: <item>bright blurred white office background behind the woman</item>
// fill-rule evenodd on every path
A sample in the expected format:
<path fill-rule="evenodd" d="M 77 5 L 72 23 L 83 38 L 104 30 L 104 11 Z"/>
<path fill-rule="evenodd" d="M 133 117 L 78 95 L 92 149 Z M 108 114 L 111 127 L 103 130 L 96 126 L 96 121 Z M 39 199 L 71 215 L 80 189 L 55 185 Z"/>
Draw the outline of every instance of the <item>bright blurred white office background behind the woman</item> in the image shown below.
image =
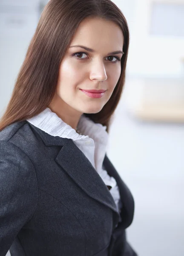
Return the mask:
<path fill-rule="evenodd" d="M 0 0 L 0 116 L 47 2 Z M 135 199 L 127 239 L 139 256 L 184 256 L 184 0 L 113 2 L 130 30 L 107 149 Z"/>

